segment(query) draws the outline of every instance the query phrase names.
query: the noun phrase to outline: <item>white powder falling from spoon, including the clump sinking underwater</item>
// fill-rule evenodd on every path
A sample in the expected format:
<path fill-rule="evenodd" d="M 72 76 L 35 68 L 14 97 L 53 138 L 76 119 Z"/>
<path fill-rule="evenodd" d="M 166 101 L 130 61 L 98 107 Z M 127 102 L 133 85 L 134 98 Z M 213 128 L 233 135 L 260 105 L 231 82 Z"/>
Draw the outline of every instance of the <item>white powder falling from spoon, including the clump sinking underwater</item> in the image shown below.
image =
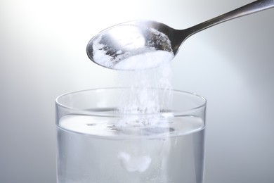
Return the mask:
<path fill-rule="evenodd" d="M 124 114 L 125 117 L 117 122 L 117 127 L 119 129 L 136 127 L 136 130 L 138 127 L 151 127 L 151 129 L 159 130 L 157 128 L 159 123 L 167 122 L 160 113 L 169 108 L 172 99 L 170 63 L 164 63 L 159 68 L 150 70 L 119 72 L 119 81 L 124 82 L 131 89 L 122 94 L 123 97 L 120 99 L 121 105 L 118 112 Z M 134 146 L 134 150 L 125 147 L 117 155 L 122 167 L 128 172 L 148 170 L 153 161 L 148 152 L 153 150 L 148 149 L 143 141 L 137 141 L 135 145 L 129 144 L 129 146 Z M 159 149 L 169 151 L 168 140 L 162 141 L 161 146 L 162 148 Z"/>

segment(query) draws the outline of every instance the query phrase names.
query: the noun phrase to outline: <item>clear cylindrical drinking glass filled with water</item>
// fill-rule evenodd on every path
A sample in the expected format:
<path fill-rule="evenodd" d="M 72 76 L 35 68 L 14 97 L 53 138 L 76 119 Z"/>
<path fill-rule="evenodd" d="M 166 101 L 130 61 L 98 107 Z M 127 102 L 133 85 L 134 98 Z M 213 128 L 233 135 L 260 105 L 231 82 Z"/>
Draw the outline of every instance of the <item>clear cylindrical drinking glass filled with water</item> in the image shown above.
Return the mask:
<path fill-rule="evenodd" d="M 58 183 L 203 182 L 206 100 L 171 90 L 169 108 L 159 113 L 117 112 L 130 90 L 90 89 L 56 99 Z M 131 125 L 121 127 L 123 120 Z"/>

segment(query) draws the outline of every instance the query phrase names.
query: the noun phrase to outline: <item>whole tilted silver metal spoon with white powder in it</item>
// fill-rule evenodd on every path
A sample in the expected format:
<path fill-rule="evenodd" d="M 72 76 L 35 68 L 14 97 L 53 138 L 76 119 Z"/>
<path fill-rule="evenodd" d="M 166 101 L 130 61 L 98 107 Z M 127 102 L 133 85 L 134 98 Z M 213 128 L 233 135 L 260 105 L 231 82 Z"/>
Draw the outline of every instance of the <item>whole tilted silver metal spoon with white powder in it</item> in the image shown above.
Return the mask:
<path fill-rule="evenodd" d="M 171 61 L 191 35 L 219 23 L 274 7 L 274 0 L 259 0 L 185 30 L 163 23 L 136 20 L 109 27 L 93 37 L 86 52 L 94 63 L 115 70 L 155 68 Z"/>

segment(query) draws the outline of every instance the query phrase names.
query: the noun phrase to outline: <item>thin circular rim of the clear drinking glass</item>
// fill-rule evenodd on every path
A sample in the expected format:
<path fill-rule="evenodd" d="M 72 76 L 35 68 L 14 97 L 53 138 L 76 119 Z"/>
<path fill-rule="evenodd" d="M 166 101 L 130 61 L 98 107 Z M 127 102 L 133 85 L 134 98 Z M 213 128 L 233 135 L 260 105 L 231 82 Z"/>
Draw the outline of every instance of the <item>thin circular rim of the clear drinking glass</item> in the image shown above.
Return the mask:
<path fill-rule="evenodd" d="M 137 88 L 137 87 L 136 87 Z M 74 92 L 67 92 L 64 94 L 59 95 L 56 100 L 56 106 L 59 106 L 61 108 L 65 108 L 67 110 L 72 110 L 72 111 L 81 111 L 81 112 L 86 112 L 89 113 L 89 115 L 94 115 L 94 116 L 102 116 L 102 117 L 106 117 L 106 116 L 110 116 L 110 114 L 99 114 L 98 111 L 90 111 L 87 109 L 82 109 L 82 108 L 74 108 L 74 107 L 70 107 L 67 106 L 65 104 L 63 104 L 62 102 L 60 102 L 60 99 L 65 97 L 65 96 L 69 96 L 71 94 L 77 94 L 77 93 L 81 93 L 81 92 L 92 92 L 92 91 L 96 91 L 96 90 L 109 90 L 109 89 L 131 89 L 131 87 L 98 87 L 98 88 L 93 88 L 93 89 L 82 89 L 82 90 L 78 90 L 78 91 L 74 91 Z M 162 88 L 150 88 L 150 89 L 162 89 Z M 162 89 L 164 90 L 164 89 Z M 203 96 L 200 96 L 199 94 L 195 94 L 192 92 L 185 92 L 183 90 L 179 90 L 179 89 L 170 89 L 171 92 L 179 92 L 181 94 L 188 94 L 191 96 L 196 96 L 197 98 L 201 99 L 201 104 L 197 105 L 196 107 L 193 108 L 188 108 L 187 110 L 182 110 L 182 111 L 176 111 L 176 112 L 172 112 L 173 114 L 180 114 L 180 113 L 187 113 L 188 111 L 193 111 L 193 110 L 197 110 L 199 108 L 203 108 L 205 106 L 207 106 L 207 99 L 205 99 Z M 115 112 L 115 111 L 113 111 Z M 164 114 L 164 113 L 170 113 L 170 112 L 160 112 L 160 113 L 112 113 L 112 115 L 114 116 L 130 116 L 130 115 L 159 115 L 159 114 Z"/>

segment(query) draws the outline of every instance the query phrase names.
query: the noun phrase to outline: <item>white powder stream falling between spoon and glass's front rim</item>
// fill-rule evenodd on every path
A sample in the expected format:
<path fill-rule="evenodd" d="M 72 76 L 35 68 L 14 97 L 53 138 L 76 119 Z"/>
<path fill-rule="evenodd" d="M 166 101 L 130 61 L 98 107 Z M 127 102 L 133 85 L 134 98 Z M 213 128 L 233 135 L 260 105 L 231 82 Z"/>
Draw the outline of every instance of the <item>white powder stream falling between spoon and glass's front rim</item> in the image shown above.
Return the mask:
<path fill-rule="evenodd" d="M 119 112 L 124 114 L 157 114 L 168 107 L 171 100 L 171 66 L 119 73 L 119 81 L 131 90 L 123 95 Z"/>

